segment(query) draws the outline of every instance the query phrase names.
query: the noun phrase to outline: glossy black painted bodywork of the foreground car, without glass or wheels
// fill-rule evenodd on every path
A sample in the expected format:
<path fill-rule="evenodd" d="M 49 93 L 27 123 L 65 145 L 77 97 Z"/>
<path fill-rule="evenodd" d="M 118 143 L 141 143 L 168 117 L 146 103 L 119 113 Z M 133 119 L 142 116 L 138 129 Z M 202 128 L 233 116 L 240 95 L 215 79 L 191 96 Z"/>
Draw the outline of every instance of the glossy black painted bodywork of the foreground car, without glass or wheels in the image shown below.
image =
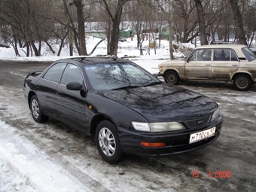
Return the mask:
<path fill-rule="evenodd" d="M 104 63 L 116 62 L 115 59 L 105 59 Z M 133 62 L 117 59 L 119 65 Z M 72 63 L 80 69 L 82 79 L 81 90 L 68 90 L 59 82 L 44 79 L 44 75 L 52 66 L 58 63 Z M 41 110 L 45 115 L 54 117 L 64 123 L 94 136 L 96 126 L 102 120 L 109 120 L 117 128 L 120 145 L 124 152 L 145 156 L 162 156 L 194 151 L 214 142 L 220 136 L 222 117 L 215 120 L 212 115 L 218 109 L 216 102 L 200 93 L 173 87 L 169 84 L 123 87 L 113 90 L 95 90 L 90 77 L 85 71 L 90 66 L 102 63 L 96 59 L 63 59 L 54 62 L 43 72 L 29 73 L 23 87 L 23 93 L 30 106 L 33 95 L 38 97 Z M 139 66 L 136 66 L 139 69 Z M 66 66 L 67 68 L 67 66 Z M 66 69 L 63 69 L 66 70 Z M 114 67 L 111 68 L 114 70 Z M 141 70 L 141 69 L 139 69 Z M 148 74 L 148 72 L 145 72 Z M 150 75 L 149 75 L 150 76 Z M 154 79 L 154 77 L 151 77 Z M 139 131 L 132 122 L 178 122 L 184 130 L 166 132 Z M 193 126 L 190 126 L 192 122 Z M 203 122 L 203 123 L 202 123 Z M 190 134 L 215 127 L 215 135 L 207 139 L 189 144 Z M 140 142 L 164 142 L 160 148 L 148 148 Z"/>

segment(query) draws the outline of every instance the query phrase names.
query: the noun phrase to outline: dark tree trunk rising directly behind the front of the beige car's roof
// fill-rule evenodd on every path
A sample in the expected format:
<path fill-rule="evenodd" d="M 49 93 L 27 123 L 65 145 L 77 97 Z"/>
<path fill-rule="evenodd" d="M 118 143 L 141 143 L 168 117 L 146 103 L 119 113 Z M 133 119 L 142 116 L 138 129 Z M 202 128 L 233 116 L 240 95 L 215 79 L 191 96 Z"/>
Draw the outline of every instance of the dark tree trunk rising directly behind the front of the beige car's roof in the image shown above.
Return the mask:
<path fill-rule="evenodd" d="M 197 18 L 199 23 L 200 41 L 201 45 L 208 44 L 206 38 L 206 23 L 203 17 L 203 6 L 201 0 L 194 0 L 197 8 Z M 232 1 L 232 0 L 230 0 Z"/>

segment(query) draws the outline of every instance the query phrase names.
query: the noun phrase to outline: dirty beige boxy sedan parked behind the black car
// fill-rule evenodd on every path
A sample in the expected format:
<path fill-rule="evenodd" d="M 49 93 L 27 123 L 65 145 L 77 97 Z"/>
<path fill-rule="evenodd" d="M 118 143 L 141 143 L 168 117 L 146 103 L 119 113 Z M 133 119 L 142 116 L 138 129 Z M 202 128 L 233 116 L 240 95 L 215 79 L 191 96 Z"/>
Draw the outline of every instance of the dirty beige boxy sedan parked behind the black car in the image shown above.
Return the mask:
<path fill-rule="evenodd" d="M 210 44 L 197 47 L 186 59 L 158 66 L 167 84 L 179 81 L 233 81 L 237 90 L 256 82 L 256 55 L 242 44 Z"/>

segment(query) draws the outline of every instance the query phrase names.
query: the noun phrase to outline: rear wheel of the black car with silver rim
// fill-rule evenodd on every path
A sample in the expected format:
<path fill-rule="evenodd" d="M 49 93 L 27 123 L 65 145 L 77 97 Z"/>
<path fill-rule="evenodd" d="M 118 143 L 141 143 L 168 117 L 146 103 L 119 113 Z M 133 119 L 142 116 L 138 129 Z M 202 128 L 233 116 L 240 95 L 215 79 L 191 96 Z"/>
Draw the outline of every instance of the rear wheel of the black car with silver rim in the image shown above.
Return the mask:
<path fill-rule="evenodd" d="M 37 96 L 32 96 L 30 99 L 30 108 L 31 108 L 31 114 L 35 122 L 37 123 L 44 123 L 48 120 L 49 117 L 47 117 L 43 111 L 41 111 L 40 104 L 38 102 Z"/>

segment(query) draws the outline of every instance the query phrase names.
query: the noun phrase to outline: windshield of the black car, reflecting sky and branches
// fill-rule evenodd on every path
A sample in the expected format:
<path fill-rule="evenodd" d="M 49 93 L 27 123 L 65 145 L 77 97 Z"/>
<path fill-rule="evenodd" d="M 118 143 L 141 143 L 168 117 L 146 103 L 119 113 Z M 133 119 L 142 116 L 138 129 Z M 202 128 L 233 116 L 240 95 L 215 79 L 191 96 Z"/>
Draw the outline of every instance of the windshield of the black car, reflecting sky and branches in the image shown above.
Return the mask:
<path fill-rule="evenodd" d="M 85 71 L 95 90 L 117 90 L 160 83 L 153 75 L 131 62 L 86 65 Z"/>

